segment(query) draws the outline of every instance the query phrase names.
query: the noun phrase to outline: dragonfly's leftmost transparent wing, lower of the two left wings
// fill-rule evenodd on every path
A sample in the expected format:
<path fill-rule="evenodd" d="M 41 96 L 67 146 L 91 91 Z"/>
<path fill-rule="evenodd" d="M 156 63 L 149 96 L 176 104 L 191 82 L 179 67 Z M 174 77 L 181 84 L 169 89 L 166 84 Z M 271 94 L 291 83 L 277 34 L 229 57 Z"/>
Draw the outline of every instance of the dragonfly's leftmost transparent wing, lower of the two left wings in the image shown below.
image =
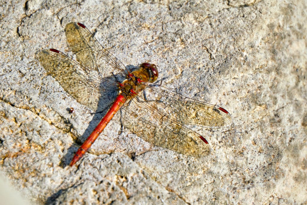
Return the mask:
<path fill-rule="evenodd" d="M 48 75 L 55 78 L 78 102 L 92 110 L 97 109 L 101 92 L 115 88 L 112 84 L 114 81 L 101 81 L 102 77 L 96 71 L 88 70 L 58 50 L 41 50 L 37 56 Z"/>

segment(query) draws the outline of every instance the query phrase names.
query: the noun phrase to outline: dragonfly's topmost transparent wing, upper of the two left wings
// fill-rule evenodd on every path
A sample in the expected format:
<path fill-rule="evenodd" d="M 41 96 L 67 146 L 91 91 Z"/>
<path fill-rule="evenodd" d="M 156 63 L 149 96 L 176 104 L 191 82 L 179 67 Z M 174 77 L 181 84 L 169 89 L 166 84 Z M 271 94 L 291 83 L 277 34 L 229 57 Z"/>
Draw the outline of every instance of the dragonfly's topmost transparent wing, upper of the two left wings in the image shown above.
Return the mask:
<path fill-rule="evenodd" d="M 113 72 L 122 78 L 126 77 L 128 73 L 122 62 L 107 51 L 83 24 L 68 23 L 65 34 L 72 52 L 76 54 L 81 65 L 98 71 L 102 76 Z"/>

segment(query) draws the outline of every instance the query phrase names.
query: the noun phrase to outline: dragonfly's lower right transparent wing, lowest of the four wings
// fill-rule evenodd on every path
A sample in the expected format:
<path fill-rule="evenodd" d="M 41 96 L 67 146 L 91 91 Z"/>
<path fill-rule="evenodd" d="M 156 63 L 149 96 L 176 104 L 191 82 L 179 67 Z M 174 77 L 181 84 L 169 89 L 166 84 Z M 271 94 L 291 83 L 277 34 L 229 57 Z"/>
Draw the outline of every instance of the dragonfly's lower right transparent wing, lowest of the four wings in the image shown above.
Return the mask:
<path fill-rule="evenodd" d="M 156 146 L 195 157 L 208 155 L 210 147 L 199 134 L 176 119 L 163 115 L 156 108 L 156 102 L 137 102 L 135 98 L 132 99 L 129 107 L 123 108 L 127 109 L 124 126 Z"/>

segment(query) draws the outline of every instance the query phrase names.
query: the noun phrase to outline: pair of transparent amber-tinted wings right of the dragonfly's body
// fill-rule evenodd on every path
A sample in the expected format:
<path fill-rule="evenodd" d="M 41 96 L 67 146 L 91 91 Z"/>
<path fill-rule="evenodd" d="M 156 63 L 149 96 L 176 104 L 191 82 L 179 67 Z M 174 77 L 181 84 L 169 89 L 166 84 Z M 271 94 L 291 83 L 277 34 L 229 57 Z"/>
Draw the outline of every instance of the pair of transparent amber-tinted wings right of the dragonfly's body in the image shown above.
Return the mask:
<path fill-rule="evenodd" d="M 159 147 L 205 156 L 210 152 L 209 145 L 187 125 L 222 128 L 232 124 L 231 115 L 221 107 L 187 98 L 163 86 L 147 86 L 144 91 L 147 102 L 139 96 L 124 107 L 124 125 Z"/>

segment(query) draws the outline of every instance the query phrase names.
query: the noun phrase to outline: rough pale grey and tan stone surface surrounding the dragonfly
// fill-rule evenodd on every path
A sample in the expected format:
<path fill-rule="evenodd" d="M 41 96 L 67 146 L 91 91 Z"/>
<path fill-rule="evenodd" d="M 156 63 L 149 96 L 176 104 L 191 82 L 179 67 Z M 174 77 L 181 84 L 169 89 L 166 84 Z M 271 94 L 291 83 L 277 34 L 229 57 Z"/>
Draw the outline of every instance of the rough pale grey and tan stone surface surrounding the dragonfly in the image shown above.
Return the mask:
<path fill-rule="evenodd" d="M 0 2 L 1 171 L 35 204 L 306 204 L 306 10 L 300 0 Z M 64 166 L 101 116 L 35 52 L 68 53 L 72 21 L 125 65 L 154 62 L 166 87 L 225 107 L 234 124 L 206 132 L 211 154 L 119 135 L 115 116 L 78 166 Z"/>

